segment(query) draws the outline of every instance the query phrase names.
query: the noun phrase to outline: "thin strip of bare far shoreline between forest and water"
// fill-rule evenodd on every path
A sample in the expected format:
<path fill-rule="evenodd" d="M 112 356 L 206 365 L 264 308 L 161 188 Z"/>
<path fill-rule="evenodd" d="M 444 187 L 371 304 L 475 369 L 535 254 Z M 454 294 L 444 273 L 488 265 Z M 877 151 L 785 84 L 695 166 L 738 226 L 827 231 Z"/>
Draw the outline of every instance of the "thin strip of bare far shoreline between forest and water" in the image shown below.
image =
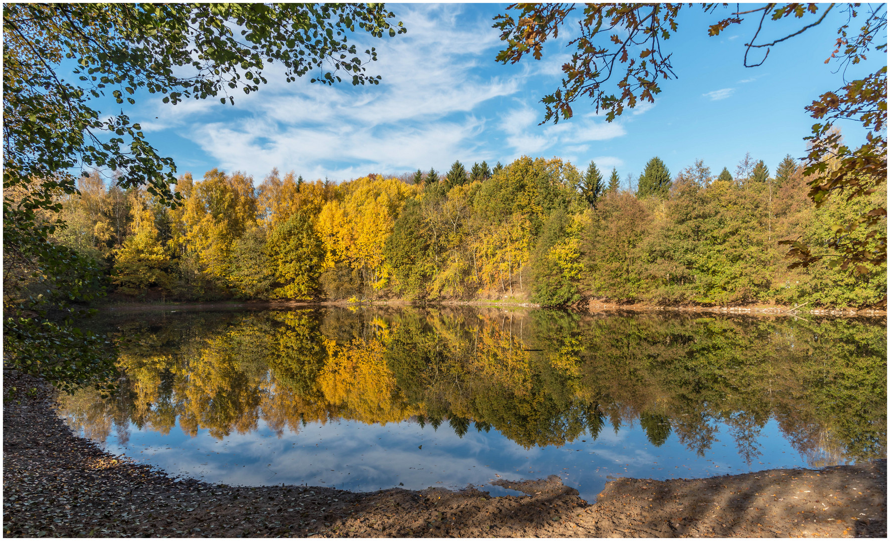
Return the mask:
<path fill-rule="evenodd" d="M 345 300 L 337 301 L 220 301 L 220 302 L 183 302 L 183 303 L 115 303 L 97 306 L 99 311 L 153 311 L 153 310 L 286 310 L 288 308 L 320 308 L 320 307 L 357 308 L 360 306 L 412 306 L 417 308 L 439 308 L 455 306 L 478 306 L 484 308 L 541 308 L 536 303 L 501 302 L 501 301 L 443 301 L 441 303 L 411 303 L 401 299 L 365 301 L 349 303 Z M 546 307 L 545 307 L 546 308 Z M 610 303 L 608 301 L 589 301 L 582 305 L 556 308 L 556 310 L 570 310 L 588 314 L 609 314 L 620 312 L 636 313 L 711 313 L 734 316 L 760 316 L 760 317 L 792 317 L 803 318 L 808 316 L 830 316 L 836 318 L 886 318 L 886 310 L 863 309 L 828 309 L 805 308 L 804 306 L 783 306 L 770 304 L 745 304 L 738 306 L 662 306 L 644 303 Z"/>

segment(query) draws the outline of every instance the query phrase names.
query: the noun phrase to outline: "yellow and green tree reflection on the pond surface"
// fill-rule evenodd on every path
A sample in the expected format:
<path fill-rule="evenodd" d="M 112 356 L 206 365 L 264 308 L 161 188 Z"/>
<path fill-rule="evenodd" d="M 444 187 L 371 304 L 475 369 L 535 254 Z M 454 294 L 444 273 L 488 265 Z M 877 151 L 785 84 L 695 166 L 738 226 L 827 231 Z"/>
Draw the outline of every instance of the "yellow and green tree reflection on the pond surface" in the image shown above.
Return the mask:
<path fill-rule="evenodd" d="M 567 312 L 305 310 L 118 324 L 127 379 L 63 400 L 97 439 L 127 421 L 215 437 L 347 418 L 474 424 L 525 447 L 638 421 L 703 454 L 718 424 L 748 462 L 771 418 L 813 464 L 882 456 L 886 330 L 805 321 Z M 125 432 L 122 432 L 125 437 Z"/>

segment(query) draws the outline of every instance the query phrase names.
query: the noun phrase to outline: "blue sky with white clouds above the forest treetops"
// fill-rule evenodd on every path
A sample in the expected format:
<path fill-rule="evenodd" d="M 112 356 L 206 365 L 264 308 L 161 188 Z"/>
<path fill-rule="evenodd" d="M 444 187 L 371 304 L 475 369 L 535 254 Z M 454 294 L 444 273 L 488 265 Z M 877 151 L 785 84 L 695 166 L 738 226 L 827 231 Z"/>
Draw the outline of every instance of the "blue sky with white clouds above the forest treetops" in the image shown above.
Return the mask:
<path fill-rule="evenodd" d="M 387 4 L 408 33 L 382 40 L 356 36 L 360 49 L 377 48 L 379 61 L 368 70 L 383 77 L 380 85 L 330 87 L 313 85 L 309 77 L 287 84 L 272 68 L 266 72 L 270 84 L 236 96 L 234 107 L 213 99 L 164 105 L 144 94 L 125 112 L 142 123 L 157 149 L 174 157 L 179 173 L 196 177 L 219 167 L 252 174 L 258 183 L 278 167 L 306 179 L 342 181 L 418 167 L 446 171 L 456 159 L 466 166 L 482 160 L 506 165 L 529 155 L 562 157 L 579 168 L 595 160 L 603 171 L 617 167 L 623 179 L 635 178 L 653 156 L 671 174 L 698 158 L 717 174 L 724 166 L 734 171 L 750 152 L 773 172 L 786 154 L 805 155 L 803 137 L 814 122 L 805 105 L 843 84 L 841 74 L 832 73 L 837 64 L 824 63 L 840 13 L 773 47 L 763 66 L 746 69 L 743 44 L 755 21 L 708 37 L 708 24 L 731 10 L 706 14 L 693 7 L 663 45 L 674 52 L 679 78 L 663 83 L 654 104 L 610 124 L 579 102 L 569 121 L 538 125 L 544 115 L 539 100 L 559 84 L 570 33 L 550 44 L 541 61 L 498 64 L 501 42 L 491 19 L 505 5 Z M 766 38 L 803 24 L 770 25 Z M 886 65 L 885 54 L 848 70 L 847 78 L 878 65 Z M 861 128 L 843 128 L 848 141 L 862 140 Z"/>

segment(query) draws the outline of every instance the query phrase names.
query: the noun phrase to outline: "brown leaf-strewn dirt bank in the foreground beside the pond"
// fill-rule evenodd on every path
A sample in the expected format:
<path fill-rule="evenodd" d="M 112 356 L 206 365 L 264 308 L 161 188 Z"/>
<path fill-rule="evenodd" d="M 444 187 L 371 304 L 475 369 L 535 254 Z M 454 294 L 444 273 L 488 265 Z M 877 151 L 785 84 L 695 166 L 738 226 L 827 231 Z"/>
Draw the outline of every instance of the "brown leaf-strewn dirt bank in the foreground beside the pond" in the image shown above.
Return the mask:
<path fill-rule="evenodd" d="M 173 480 L 74 436 L 54 392 L 4 401 L 6 537 L 886 537 L 886 460 L 693 480 L 617 479 L 593 505 L 558 477 L 352 493 Z"/>

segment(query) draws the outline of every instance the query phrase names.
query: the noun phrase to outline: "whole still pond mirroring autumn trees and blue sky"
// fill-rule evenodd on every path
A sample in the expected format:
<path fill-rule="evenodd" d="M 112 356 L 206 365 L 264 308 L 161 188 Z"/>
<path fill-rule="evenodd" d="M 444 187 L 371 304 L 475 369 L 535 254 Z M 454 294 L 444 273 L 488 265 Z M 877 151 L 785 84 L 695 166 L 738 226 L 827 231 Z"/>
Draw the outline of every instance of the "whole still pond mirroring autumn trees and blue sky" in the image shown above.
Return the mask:
<path fill-rule="evenodd" d="M 676 479 L 886 457 L 886 320 L 325 308 L 103 316 L 110 452 L 230 485 Z"/>

